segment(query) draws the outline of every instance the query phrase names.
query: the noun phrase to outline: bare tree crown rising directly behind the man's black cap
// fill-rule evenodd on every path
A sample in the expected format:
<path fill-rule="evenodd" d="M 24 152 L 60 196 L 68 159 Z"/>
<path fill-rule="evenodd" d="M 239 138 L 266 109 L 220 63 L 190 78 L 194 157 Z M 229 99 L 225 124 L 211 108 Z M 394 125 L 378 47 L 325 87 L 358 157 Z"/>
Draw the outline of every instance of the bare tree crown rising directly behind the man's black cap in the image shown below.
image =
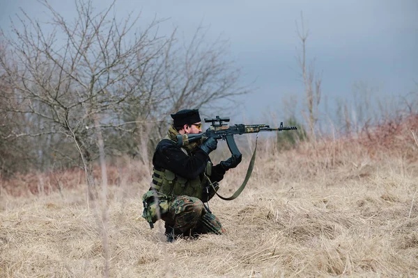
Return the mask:
<path fill-rule="evenodd" d="M 175 35 L 175 33 L 173 33 Z M 224 59 L 228 42 L 218 38 L 206 42 L 206 30 L 199 26 L 192 40 L 182 47 L 172 37 L 164 63 L 165 95 L 169 111 L 182 107 L 210 107 L 215 101 L 247 93 L 238 85 L 240 70 Z"/>

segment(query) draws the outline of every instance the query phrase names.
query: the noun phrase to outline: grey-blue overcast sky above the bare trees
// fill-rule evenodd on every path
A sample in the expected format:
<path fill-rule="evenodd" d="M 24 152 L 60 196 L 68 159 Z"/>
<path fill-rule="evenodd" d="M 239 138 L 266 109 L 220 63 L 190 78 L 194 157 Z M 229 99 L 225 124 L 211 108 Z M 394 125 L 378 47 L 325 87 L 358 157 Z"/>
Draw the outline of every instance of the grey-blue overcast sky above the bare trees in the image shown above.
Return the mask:
<path fill-rule="evenodd" d="M 105 8 L 109 2 L 93 0 L 93 6 Z M 50 3 L 64 16 L 75 15 L 74 1 Z M 3 29 L 20 7 L 31 17 L 45 16 L 45 8 L 35 0 L 0 0 Z M 316 69 L 322 72 L 328 106 L 337 98 L 350 100 L 360 82 L 380 96 L 404 96 L 418 87 L 417 0 L 116 1 L 118 17 L 128 11 L 141 11 L 141 22 L 167 18 L 162 34 L 178 26 L 189 38 L 203 24 L 209 39 L 229 39 L 229 57 L 242 67 L 242 82 L 255 81 L 257 88 L 241 99 L 251 104 L 248 117 L 261 117 L 266 108 L 279 111 L 282 99 L 302 95 L 295 72 L 295 47 L 300 43 L 295 21 L 301 12 L 310 32 L 307 56 L 316 59 Z"/>

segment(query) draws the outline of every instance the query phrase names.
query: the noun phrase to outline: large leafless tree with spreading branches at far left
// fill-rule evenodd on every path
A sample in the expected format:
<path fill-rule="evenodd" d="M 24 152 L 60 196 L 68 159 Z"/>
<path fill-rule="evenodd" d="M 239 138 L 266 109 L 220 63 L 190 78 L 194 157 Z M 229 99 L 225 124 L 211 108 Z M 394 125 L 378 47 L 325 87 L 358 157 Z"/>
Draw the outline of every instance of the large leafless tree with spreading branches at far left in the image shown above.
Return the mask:
<path fill-rule="evenodd" d="M 13 88 L 1 96 L 20 104 L 6 110 L 36 117 L 38 130 L 8 137 L 61 134 L 75 143 L 88 173 L 98 154 L 95 129 L 123 126 L 112 115 L 122 111 L 125 101 L 154 97 L 143 90 L 142 77 L 166 40 L 153 33 L 157 21 L 141 32 L 134 29 L 137 17 L 117 22 L 110 15 L 114 3 L 95 13 L 91 1 L 76 1 L 75 22 L 66 21 L 46 0 L 42 3 L 52 15 L 52 32 L 23 13 L 22 29 L 14 27 L 15 38 L 6 39 L 14 63 L 0 59 Z M 91 177 L 86 178 L 90 184 Z"/>

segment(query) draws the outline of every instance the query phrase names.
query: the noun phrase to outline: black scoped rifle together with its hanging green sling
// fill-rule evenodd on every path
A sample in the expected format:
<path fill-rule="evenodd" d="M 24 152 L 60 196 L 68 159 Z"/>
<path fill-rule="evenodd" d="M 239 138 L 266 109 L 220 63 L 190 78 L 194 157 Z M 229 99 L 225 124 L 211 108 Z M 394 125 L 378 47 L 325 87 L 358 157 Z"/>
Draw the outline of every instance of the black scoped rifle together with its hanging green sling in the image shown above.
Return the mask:
<path fill-rule="evenodd" d="M 284 130 L 297 130 L 296 126 L 283 126 L 283 122 L 280 123 L 280 126 L 277 128 L 271 128 L 268 124 L 234 124 L 233 126 L 229 126 L 227 124 L 223 124 L 223 122 L 229 122 L 229 117 L 219 117 L 216 116 L 215 118 L 205 118 L 205 122 L 212 122 L 209 129 L 207 129 L 203 133 L 198 134 L 183 134 L 177 136 L 177 142 L 180 147 L 189 145 L 191 142 L 195 142 L 200 139 L 205 138 L 215 138 L 217 140 L 226 140 L 228 144 L 229 150 L 231 154 L 235 154 L 238 156 L 242 156 L 240 150 L 238 149 L 235 140 L 233 138 L 234 135 L 241 135 L 245 133 L 258 133 L 261 131 L 284 131 Z M 240 188 L 233 193 L 231 197 L 222 197 L 217 193 L 215 189 L 214 183 L 212 183 L 209 177 L 206 176 L 208 179 L 210 186 L 212 189 L 215 190 L 216 195 L 224 200 L 230 201 L 238 197 L 242 190 L 244 190 L 245 186 L 247 185 L 247 181 L 251 176 L 252 170 L 254 168 L 254 162 L 256 159 L 256 149 L 257 149 L 257 141 L 256 147 L 254 148 L 254 153 L 251 156 L 251 161 L 248 165 L 247 174 L 245 175 L 245 179 L 242 182 Z"/>

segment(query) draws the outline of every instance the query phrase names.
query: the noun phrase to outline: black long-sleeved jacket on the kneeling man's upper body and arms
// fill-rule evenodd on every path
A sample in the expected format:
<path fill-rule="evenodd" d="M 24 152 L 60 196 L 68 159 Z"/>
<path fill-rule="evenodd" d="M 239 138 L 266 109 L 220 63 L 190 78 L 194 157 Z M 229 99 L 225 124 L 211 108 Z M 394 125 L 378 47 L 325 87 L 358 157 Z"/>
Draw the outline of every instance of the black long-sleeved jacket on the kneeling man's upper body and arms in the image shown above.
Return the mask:
<path fill-rule="evenodd" d="M 203 174 L 210 160 L 208 154 L 197 148 L 190 156 L 185 154 L 175 142 L 169 139 L 161 140 L 153 156 L 153 165 L 158 169 L 167 169 L 185 179 L 195 179 Z M 214 165 L 210 180 L 212 182 L 224 179 L 225 170 L 222 165 Z"/>

